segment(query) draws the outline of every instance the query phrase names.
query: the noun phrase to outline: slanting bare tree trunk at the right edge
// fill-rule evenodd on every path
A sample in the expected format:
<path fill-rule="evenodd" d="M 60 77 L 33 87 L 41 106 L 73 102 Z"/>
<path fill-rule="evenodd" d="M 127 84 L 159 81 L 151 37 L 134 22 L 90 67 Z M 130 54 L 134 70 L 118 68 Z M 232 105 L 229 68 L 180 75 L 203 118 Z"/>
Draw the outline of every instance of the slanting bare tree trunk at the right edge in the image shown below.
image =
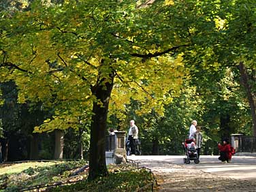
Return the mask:
<path fill-rule="evenodd" d="M 251 108 L 251 115 L 253 118 L 253 135 L 256 136 L 256 96 L 254 95 L 255 93 L 253 93 L 251 84 L 249 83 L 250 77 L 246 71 L 244 63 L 240 62 L 238 68 L 240 70 L 241 82 L 246 90 L 247 98 Z M 255 82 L 255 80 L 252 80 L 252 82 Z"/>

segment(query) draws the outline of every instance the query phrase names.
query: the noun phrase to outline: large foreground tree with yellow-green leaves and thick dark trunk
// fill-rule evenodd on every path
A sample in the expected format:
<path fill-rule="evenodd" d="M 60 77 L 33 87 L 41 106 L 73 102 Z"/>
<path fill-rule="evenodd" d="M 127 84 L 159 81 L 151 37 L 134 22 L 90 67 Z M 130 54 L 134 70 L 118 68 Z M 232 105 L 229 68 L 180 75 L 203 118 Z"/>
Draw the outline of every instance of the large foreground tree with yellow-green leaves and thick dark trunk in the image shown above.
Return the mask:
<path fill-rule="evenodd" d="M 133 97 L 143 109 L 155 106 L 157 112 L 171 101 L 165 99 L 171 92 L 178 93 L 182 58 L 170 54 L 187 45 L 182 35 L 174 39 L 170 31 L 160 33 L 168 29 L 160 22 L 165 14 L 155 15 L 163 6 L 148 12 L 150 7 L 139 9 L 133 1 L 36 2 L 12 18 L 2 15 L 1 72 L 16 80 L 18 101 L 42 101 L 58 116 L 93 106 L 91 112 L 81 110 L 92 116 L 89 178 L 107 174 L 104 148 L 113 89 L 127 93 L 127 103 Z"/>

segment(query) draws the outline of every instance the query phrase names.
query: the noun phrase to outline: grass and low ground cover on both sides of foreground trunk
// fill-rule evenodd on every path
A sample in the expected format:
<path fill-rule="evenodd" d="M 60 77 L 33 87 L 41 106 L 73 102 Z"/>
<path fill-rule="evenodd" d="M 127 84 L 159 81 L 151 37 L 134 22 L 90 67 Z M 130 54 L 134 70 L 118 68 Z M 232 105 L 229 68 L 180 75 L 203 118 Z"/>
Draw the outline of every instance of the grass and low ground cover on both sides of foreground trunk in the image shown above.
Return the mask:
<path fill-rule="evenodd" d="M 35 185 L 52 185 L 56 182 L 76 181 L 61 185 L 50 191 L 135 191 L 148 185 L 142 191 L 150 191 L 153 175 L 146 169 L 134 169 L 131 164 L 109 165 L 108 176 L 86 180 L 88 172 L 76 177 L 71 174 L 88 164 L 85 161 L 29 162 L 0 165 L 0 191 L 15 192 Z"/>

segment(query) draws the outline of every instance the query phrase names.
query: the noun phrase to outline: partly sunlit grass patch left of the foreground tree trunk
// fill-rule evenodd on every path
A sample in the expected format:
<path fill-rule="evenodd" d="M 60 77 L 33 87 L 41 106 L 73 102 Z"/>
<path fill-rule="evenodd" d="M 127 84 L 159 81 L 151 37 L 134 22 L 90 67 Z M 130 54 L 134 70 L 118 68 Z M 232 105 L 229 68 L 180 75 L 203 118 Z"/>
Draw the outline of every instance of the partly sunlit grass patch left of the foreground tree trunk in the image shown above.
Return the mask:
<path fill-rule="evenodd" d="M 20 191 L 35 185 L 52 184 L 69 177 L 72 170 L 87 164 L 84 161 L 33 162 L 1 165 L 0 191 Z M 3 169 L 3 170 L 2 170 Z"/>

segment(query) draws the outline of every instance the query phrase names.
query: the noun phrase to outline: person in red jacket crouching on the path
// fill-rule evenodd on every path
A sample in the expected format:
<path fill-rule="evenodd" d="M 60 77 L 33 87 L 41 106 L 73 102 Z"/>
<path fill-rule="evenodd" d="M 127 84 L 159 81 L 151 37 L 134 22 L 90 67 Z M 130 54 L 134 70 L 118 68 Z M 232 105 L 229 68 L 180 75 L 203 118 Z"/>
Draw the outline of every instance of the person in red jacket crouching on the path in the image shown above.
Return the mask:
<path fill-rule="evenodd" d="M 230 163 L 231 162 L 231 145 L 229 144 L 229 140 L 224 139 L 223 140 L 223 145 L 221 145 L 220 143 L 218 144 L 218 148 L 220 151 L 220 157 L 219 160 L 223 163 Z"/>

